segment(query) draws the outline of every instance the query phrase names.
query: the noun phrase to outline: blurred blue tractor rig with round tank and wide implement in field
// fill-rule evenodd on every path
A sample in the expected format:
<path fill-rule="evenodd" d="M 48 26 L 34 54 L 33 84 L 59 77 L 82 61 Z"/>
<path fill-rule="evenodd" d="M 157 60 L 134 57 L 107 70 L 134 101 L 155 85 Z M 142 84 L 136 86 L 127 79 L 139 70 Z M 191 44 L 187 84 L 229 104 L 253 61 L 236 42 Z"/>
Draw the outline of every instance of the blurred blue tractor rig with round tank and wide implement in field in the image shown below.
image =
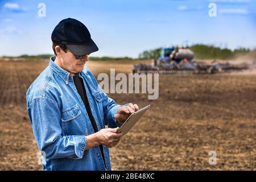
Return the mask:
<path fill-rule="evenodd" d="M 153 64 L 137 64 L 133 73 L 225 73 L 255 69 L 255 61 L 251 63 L 205 63 L 193 60 L 194 53 L 185 47 L 164 47 Z"/>

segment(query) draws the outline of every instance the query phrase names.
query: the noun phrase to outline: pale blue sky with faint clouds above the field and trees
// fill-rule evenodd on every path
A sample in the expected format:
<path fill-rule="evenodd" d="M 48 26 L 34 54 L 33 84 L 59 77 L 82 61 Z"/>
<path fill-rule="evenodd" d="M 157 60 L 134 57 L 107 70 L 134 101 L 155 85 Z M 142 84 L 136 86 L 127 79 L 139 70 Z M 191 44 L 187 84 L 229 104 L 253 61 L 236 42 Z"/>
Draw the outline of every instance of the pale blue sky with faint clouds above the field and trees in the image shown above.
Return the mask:
<path fill-rule="evenodd" d="M 209 3 L 216 17 L 208 15 Z M 137 57 L 185 41 L 256 48 L 256 0 L 0 0 L 0 56 L 53 53 L 51 32 L 68 17 L 88 27 L 100 48 L 92 56 Z"/>

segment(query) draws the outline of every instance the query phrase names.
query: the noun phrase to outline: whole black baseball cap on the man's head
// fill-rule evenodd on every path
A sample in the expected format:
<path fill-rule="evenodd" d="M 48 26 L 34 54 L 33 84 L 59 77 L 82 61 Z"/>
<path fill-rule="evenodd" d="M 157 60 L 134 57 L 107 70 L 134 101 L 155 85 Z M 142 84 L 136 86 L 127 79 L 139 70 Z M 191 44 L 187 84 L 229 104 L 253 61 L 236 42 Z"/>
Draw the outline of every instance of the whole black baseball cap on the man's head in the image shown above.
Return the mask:
<path fill-rule="evenodd" d="M 77 56 L 98 51 L 86 26 L 73 18 L 61 20 L 52 31 L 51 38 L 54 43 L 65 44 Z"/>

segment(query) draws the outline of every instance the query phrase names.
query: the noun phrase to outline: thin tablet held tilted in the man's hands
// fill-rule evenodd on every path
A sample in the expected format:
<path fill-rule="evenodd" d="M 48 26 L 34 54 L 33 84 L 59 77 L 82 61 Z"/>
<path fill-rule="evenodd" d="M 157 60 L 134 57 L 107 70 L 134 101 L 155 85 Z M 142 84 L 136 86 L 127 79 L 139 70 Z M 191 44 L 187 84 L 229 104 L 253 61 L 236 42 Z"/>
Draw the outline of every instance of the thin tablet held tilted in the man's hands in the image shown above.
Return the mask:
<path fill-rule="evenodd" d="M 141 119 L 142 115 L 146 113 L 147 109 L 150 105 L 143 107 L 142 109 L 136 111 L 135 113 L 131 114 L 129 118 L 126 119 L 125 123 L 121 126 L 118 132 L 122 132 L 123 135 L 127 134 L 131 128 Z"/>

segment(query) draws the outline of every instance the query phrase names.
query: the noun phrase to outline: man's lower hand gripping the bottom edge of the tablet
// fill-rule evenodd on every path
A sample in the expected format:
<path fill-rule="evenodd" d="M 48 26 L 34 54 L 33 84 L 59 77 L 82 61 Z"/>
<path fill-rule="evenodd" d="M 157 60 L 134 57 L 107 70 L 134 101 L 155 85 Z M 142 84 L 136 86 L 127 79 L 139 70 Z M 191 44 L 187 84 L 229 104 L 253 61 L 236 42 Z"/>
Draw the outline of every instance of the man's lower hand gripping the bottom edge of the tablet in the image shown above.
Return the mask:
<path fill-rule="evenodd" d="M 122 137 L 122 133 L 117 133 L 118 129 L 119 127 L 115 129 L 101 129 L 95 133 L 98 143 L 104 144 L 104 146 L 109 148 L 116 146 Z"/>

